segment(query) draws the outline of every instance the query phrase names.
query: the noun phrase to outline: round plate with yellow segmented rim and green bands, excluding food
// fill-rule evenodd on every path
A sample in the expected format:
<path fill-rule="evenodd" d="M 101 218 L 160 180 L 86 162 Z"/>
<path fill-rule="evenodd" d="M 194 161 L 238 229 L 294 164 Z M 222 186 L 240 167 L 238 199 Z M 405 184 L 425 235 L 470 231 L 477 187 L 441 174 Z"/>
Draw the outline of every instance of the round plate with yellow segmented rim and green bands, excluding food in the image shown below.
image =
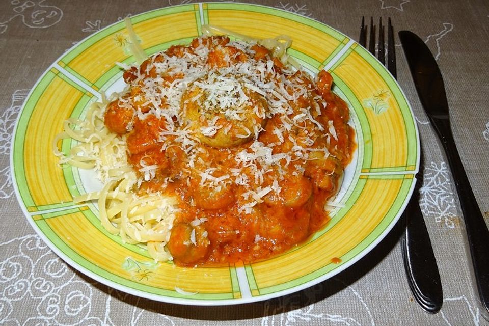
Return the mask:
<path fill-rule="evenodd" d="M 139 247 L 106 232 L 91 203 L 72 197 L 97 188 L 90 171 L 61 169 L 52 140 L 69 117 L 84 117 L 102 92 L 124 86 L 116 62 L 130 64 L 124 22 L 65 52 L 26 99 L 12 143 L 15 192 L 36 232 L 68 264 L 118 290 L 188 305 L 249 303 L 327 280 L 378 244 L 399 219 L 414 188 L 419 137 L 408 101 L 394 78 L 354 40 L 287 11 L 248 4 L 200 3 L 132 16 L 148 55 L 186 44 L 210 23 L 255 38 L 289 35 L 289 54 L 311 73 L 328 70 L 334 92 L 350 107 L 358 149 L 347 167 L 331 221 L 281 255 L 252 264 L 180 268 L 155 263 Z M 74 141 L 62 143 L 64 151 Z"/>

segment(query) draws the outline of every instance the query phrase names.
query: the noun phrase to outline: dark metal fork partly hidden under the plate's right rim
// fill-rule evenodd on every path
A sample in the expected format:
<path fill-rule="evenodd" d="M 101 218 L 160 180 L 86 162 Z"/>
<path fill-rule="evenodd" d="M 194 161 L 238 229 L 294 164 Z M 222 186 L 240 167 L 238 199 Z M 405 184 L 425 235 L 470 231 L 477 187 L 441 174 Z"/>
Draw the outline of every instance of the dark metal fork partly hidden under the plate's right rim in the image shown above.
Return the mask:
<path fill-rule="evenodd" d="M 369 30 L 368 51 L 373 56 L 377 52 L 377 59 L 386 66 L 394 78 L 397 78 L 396 52 L 391 18 L 388 20 L 387 27 L 387 53 L 385 53 L 382 18 L 379 19 L 378 24 L 377 51 L 375 51 L 375 26 L 373 24 L 373 17 L 370 17 Z M 366 37 L 367 26 L 365 25 L 365 17 L 362 17 L 359 43 L 364 47 L 367 44 Z M 431 247 L 423 213 L 419 207 L 420 186 L 421 181 L 418 178 L 413 196 L 404 210 L 398 225 L 404 231 L 401 236 L 402 257 L 411 292 L 421 308 L 428 313 L 434 314 L 442 308 L 443 291 L 437 261 L 434 257 L 433 248 Z"/>

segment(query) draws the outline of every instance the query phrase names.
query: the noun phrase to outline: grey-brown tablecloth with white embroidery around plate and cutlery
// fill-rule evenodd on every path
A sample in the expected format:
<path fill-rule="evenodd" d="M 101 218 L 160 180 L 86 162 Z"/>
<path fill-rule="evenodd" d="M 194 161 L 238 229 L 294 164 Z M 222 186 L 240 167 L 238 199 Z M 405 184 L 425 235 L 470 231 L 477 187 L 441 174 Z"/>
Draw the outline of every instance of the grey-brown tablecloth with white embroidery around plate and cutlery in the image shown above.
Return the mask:
<path fill-rule="evenodd" d="M 56 58 L 91 33 L 127 15 L 191 2 L 0 2 L 0 204 L 6 222 L 0 233 L 0 324 L 488 324 L 472 287 L 465 231 L 448 166 L 417 97 L 398 39 L 398 82 L 411 102 L 422 144 L 424 181 L 420 205 L 443 284 L 444 303 L 438 314 L 425 313 L 414 301 L 396 228 L 360 262 L 328 281 L 273 300 L 227 307 L 173 305 L 125 294 L 78 273 L 45 246 L 26 221 L 11 181 L 11 134 L 23 100 Z M 445 78 L 456 145 L 479 208 L 489 221 L 489 2 L 250 3 L 314 18 L 354 39 L 358 37 L 362 16 L 373 16 L 375 20 L 382 16 L 385 21 L 391 17 L 395 31 L 411 30 L 425 40 Z M 43 279 L 51 280 L 54 287 L 49 294 L 36 294 L 33 289 Z"/>

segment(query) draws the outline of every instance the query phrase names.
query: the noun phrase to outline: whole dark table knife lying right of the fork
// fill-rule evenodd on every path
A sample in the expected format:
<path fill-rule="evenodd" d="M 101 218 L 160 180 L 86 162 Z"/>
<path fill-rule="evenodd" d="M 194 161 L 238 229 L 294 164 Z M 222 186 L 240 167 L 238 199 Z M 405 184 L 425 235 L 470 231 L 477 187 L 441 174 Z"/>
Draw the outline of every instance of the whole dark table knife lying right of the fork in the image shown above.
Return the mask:
<path fill-rule="evenodd" d="M 429 48 L 416 34 L 400 31 L 399 38 L 408 60 L 421 104 L 441 140 L 452 172 L 472 260 L 480 302 L 489 312 L 489 230 L 458 155 L 450 129 L 448 102 L 442 73 Z"/>

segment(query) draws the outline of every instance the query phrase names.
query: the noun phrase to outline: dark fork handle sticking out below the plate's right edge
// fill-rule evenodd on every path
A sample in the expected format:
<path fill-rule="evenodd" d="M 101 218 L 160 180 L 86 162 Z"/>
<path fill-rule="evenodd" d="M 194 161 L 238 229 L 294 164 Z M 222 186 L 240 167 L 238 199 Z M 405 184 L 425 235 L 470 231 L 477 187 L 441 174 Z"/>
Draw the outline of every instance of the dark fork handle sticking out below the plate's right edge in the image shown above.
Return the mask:
<path fill-rule="evenodd" d="M 406 228 L 402 234 L 402 256 L 408 284 L 419 305 L 429 313 L 437 313 L 443 305 L 440 273 L 423 213 L 419 208 L 418 187 L 404 211 Z"/>

